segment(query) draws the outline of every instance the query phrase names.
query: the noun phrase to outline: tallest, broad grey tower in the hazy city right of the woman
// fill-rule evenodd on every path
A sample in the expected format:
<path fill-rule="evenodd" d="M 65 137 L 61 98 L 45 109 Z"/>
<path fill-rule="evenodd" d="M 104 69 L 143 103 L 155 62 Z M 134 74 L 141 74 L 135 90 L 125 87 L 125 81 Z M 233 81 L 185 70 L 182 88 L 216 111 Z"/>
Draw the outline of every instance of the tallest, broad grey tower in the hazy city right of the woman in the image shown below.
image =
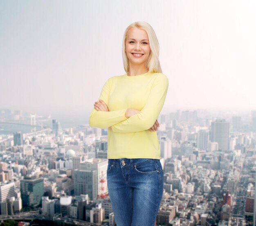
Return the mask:
<path fill-rule="evenodd" d="M 218 142 L 219 150 L 229 150 L 229 123 L 225 119 L 211 123 L 211 141 Z"/>

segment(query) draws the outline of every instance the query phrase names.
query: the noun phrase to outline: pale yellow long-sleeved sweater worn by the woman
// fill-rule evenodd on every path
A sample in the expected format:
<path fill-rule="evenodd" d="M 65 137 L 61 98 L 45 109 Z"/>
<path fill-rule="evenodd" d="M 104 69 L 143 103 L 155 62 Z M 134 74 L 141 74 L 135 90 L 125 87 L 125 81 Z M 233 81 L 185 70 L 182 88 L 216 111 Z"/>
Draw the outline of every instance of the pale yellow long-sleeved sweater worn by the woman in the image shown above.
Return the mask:
<path fill-rule="evenodd" d="M 99 99 L 109 112 L 92 109 L 89 125 L 108 128 L 108 159 L 160 159 L 157 132 L 151 128 L 162 110 L 168 78 L 162 73 L 113 76 L 106 81 Z M 97 101 L 99 101 L 99 99 Z M 127 108 L 140 110 L 126 118 Z"/>

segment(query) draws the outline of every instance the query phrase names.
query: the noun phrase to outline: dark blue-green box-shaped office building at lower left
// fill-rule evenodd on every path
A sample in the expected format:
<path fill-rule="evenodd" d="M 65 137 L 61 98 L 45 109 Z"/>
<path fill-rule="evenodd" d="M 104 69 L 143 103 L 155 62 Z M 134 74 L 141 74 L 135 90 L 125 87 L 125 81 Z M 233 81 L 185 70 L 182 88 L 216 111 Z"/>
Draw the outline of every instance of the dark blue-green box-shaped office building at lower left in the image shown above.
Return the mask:
<path fill-rule="evenodd" d="M 40 205 L 44 194 L 43 178 L 25 177 L 20 180 L 20 193 L 23 207 L 36 208 Z"/>

